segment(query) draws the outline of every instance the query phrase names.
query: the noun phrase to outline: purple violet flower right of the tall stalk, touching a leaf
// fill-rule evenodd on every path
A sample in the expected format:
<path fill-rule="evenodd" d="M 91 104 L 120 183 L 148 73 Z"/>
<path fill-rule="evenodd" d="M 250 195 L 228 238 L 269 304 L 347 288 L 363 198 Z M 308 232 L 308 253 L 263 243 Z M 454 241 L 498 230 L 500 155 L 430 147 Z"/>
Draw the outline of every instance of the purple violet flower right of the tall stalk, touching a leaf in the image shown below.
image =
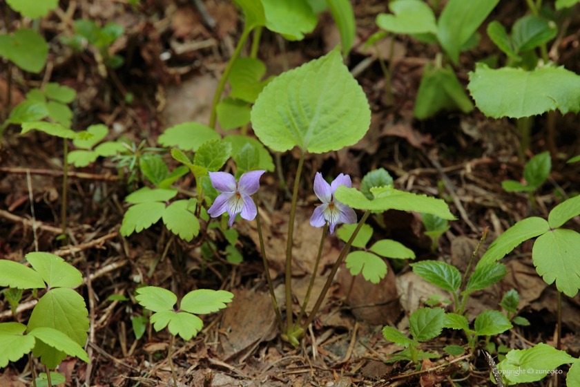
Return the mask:
<path fill-rule="evenodd" d="M 322 173 L 320 172 L 317 172 L 316 178 L 314 178 L 314 193 L 316 193 L 322 205 L 316 207 L 314 210 L 314 214 L 310 218 L 310 224 L 314 227 L 322 227 L 328 220 L 330 234 L 334 233 L 334 226 L 338 222 L 346 223 L 347 225 L 356 223 L 354 209 L 343 205 L 334 198 L 336 189 L 341 185 L 351 188 L 352 182 L 350 176 L 340 173 L 331 185 L 322 178 Z"/>

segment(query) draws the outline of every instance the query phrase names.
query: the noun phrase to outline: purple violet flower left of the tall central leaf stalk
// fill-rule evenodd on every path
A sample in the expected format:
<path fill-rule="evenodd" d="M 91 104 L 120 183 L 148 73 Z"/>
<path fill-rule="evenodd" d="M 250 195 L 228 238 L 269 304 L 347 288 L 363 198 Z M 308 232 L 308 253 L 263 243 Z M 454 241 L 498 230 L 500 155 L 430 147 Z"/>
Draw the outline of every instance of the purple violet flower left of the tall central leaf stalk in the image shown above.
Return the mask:
<path fill-rule="evenodd" d="M 246 172 L 240 177 L 239 182 L 235 181 L 235 178 L 230 173 L 210 172 L 211 185 L 220 191 L 221 194 L 215 198 L 215 202 L 207 210 L 209 216 L 217 218 L 227 211 L 230 216 L 230 227 L 238 214 L 246 220 L 253 220 L 255 215 L 258 214 L 258 209 L 255 208 L 250 195 L 256 193 L 260 188 L 260 176 L 264 172 Z"/>

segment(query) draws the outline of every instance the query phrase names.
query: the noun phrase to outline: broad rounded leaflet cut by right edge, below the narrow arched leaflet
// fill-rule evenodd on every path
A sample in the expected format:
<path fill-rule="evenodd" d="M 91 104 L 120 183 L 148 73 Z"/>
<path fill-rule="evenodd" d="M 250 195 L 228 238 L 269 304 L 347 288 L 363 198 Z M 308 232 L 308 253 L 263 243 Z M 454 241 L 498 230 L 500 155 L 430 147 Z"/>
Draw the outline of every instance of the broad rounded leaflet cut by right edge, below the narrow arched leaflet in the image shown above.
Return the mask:
<path fill-rule="evenodd" d="M 532 258 L 545 283 L 556 281 L 560 292 L 573 297 L 580 289 L 580 234 L 569 229 L 546 232 L 534 243 Z"/>

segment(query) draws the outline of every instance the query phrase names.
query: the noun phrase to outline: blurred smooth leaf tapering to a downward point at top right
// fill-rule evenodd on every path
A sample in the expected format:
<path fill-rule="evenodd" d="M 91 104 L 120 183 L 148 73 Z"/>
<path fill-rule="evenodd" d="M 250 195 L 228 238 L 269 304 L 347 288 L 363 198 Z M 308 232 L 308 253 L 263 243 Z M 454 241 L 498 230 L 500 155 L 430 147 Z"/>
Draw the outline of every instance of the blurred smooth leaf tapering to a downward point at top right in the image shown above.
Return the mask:
<path fill-rule="evenodd" d="M 479 28 L 499 0 L 450 0 L 438 21 L 437 37 L 454 64 L 461 47 Z"/>

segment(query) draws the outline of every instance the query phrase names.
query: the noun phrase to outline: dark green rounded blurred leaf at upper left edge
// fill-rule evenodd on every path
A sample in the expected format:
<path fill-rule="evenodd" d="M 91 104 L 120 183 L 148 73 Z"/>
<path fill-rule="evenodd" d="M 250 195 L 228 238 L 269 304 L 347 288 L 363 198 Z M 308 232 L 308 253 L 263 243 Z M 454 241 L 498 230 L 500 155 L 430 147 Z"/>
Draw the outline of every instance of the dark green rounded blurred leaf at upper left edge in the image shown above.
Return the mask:
<path fill-rule="evenodd" d="M 19 28 L 14 31 L 14 35 L 0 35 L 0 56 L 14 62 L 24 71 L 40 73 L 46 64 L 47 54 L 48 44 L 33 30 Z"/>

